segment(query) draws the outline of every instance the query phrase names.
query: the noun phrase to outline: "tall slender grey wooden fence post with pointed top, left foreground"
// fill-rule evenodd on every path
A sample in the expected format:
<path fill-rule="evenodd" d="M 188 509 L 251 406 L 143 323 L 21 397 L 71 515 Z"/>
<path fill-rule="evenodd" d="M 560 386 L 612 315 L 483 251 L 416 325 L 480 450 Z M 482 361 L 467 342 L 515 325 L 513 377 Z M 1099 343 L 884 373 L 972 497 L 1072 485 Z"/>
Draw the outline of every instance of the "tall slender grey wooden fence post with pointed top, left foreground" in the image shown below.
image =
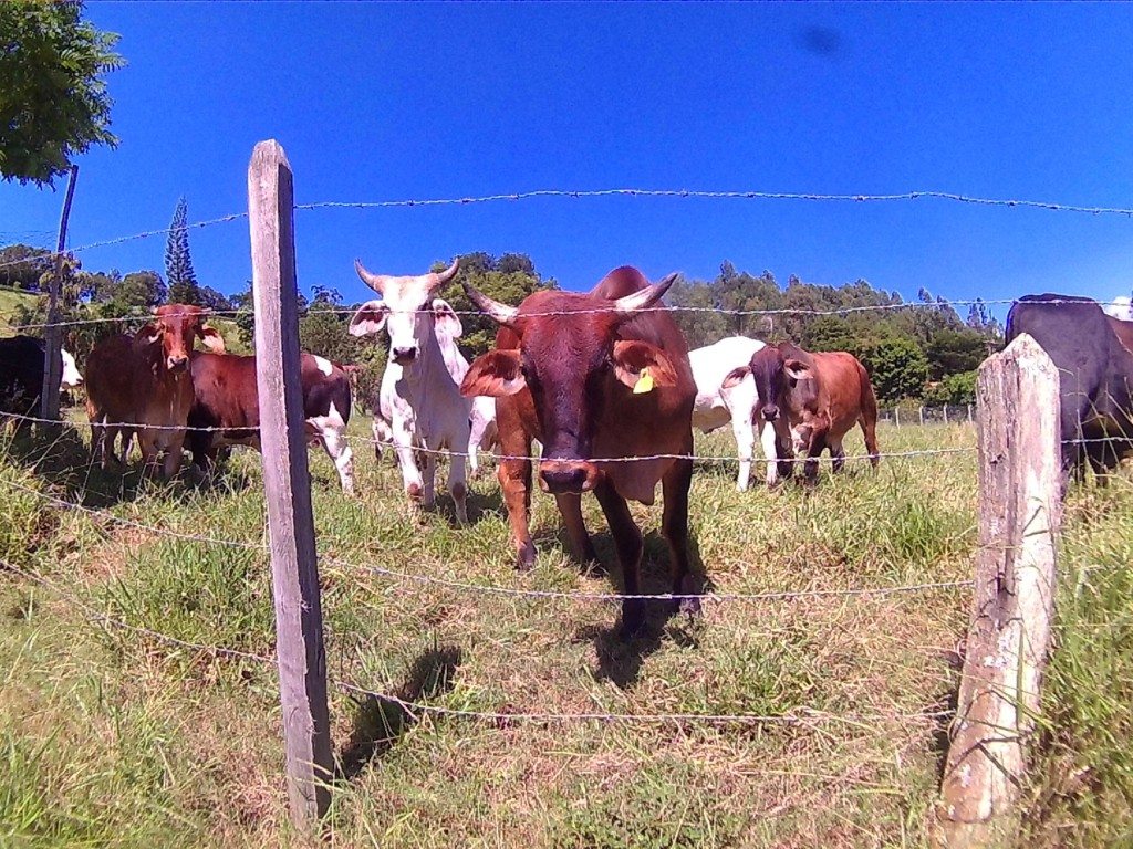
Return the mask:
<path fill-rule="evenodd" d="M 275 651 L 291 820 L 307 834 L 330 803 L 326 653 L 299 386 L 291 166 L 261 142 L 248 166 L 259 438 L 271 534 Z"/>

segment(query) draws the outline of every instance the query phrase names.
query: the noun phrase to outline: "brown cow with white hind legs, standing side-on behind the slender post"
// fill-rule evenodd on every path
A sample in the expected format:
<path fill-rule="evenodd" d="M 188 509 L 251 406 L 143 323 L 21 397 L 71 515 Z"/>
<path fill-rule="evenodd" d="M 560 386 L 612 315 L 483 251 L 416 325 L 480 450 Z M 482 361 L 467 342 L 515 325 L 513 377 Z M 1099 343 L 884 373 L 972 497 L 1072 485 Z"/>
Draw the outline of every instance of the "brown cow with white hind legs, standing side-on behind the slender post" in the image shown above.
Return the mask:
<path fill-rule="evenodd" d="M 228 445 L 259 447 L 259 394 L 256 358 L 239 354 L 193 354 L 189 452 L 193 463 L 208 471 Z M 299 358 L 299 384 L 308 441 L 317 441 L 334 462 L 342 491 L 353 494 L 353 453 L 346 439 L 350 422 L 350 377 L 323 357 Z"/>

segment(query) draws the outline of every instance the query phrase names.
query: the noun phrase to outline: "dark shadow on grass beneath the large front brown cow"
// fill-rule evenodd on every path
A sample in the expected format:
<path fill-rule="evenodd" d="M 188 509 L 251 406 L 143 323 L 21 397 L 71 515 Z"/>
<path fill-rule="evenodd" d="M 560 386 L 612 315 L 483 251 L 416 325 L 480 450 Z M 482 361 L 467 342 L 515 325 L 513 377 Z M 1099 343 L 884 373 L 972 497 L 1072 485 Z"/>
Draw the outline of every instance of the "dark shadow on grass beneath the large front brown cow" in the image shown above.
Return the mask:
<path fill-rule="evenodd" d="M 613 588 L 611 592 L 624 592 L 622 569 L 617 565 L 614 552 L 613 537 L 608 530 L 591 534 L 594 546 L 603 564 L 610 564 L 608 574 Z M 689 535 L 690 572 L 701 586 L 702 593 L 713 591 L 712 582 L 705 573 L 700 547 L 695 534 Z M 645 550 L 641 556 L 640 590 L 644 595 L 661 595 L 672 592 L 670 575 L 668 543 L 657 531 L 645 534 Z M 627 689 L 637 683 L 646 658 L 656 652 L 667 637 L 683 648 L 696 648 L 699 644 L 700 616 L 689 616 L 678 611 L 676 604 L 668 599 L 646 601 L 645 624 L 633 635 L 622 632 L 619 607 L 606 608 L 616 620 L 608 625 L 589 625 L 576 634 L 578 641 L 593 641 L 598 658 L 595 677 L 608 680 L 620 689 Z M 614 612 L 614 611 L 617 612 Z"/>

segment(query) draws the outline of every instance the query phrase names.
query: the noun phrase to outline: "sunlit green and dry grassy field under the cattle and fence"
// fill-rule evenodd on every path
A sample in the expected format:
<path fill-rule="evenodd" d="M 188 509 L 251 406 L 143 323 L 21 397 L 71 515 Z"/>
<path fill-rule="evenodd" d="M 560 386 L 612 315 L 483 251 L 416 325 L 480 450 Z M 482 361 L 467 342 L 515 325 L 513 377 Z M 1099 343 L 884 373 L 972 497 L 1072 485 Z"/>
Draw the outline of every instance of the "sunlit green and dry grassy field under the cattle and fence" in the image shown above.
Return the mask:
<path fill-rule="evenodd" d="M 351 431 L 368 436 L 368 421 Z M 288 831 L 273 668 L 172 646 L 273 651 L 266 556 L 170 537 L 257 546 L 258 458 L 237 454 L 212 488 L 104 475 L 85 429 L 44 446 L 0 444 L 0 844 L 266 846 Z M 883 427 L 883 452 L 970 448 L 969 426 Z M 860 438 L 847 444 L 860 454 Z M 467 719 L 333 691 L 335 846 L 926 846 L 970 591 L 709 602 L 616 636 L 610 601 L 533 599 L 392 580 L 374 567 L 474 588 L 604 593 L 564 552 L 553 500 L 536 494 L 536 568 L 512 569 L 494 474 L 470 496 L 411 512 L 400 477 L 356 441 L 359 496 L 312 453 L 334 683 L 417 704 L 505 714 L 759 714 L 794 723 Z M 697 452 L 729 455 L 723 437 Z M 825 470 L 824 470 L 825 471 Z M 813 492 L 734 490 L 705 461 L 691 525 L 717 593 L 843 590 L 971 577 L 973 453 L 851 463 Z M 95 513 L 52 506 L 44 496 Z M 588 525 L 612 543 L 597 505 Z M 644 583 L 664 591 L 659 506 Z M 117 517 L 118 521 L 116 521 Z M 1133 488 L 1072 496 L 1059 646 L 1026 839 L 1111 846 L 1131 832 Z"/>

